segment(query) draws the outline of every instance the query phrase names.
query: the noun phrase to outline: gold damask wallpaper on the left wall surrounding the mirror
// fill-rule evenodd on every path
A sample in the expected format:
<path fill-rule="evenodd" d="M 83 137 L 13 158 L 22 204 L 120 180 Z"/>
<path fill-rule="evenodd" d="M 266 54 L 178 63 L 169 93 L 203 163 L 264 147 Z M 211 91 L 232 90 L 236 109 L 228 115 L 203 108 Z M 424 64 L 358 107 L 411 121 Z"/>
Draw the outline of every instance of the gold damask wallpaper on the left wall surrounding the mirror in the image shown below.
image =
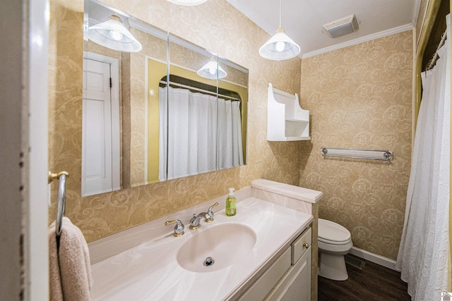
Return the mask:
<path fill-rule="evenodd" d="M 166 0 L 105 2 L 249 69 L 248 164 L 81 197 L 83 0 L 51 0 L 49 170 L 69 171 L 66 216 L 88 242 L 225 195 L 229 187 L 244 188 L 257 178 L 299 183 L 301 142 L 267 142 L 266 107 L 268 82 L 299 92 L 300 59 L 262 59 L 258 49 L 269 35 L 225 0 L 195 7 Z M 56 186 L 52 185 L 50 221 L 55 216 Z"/>

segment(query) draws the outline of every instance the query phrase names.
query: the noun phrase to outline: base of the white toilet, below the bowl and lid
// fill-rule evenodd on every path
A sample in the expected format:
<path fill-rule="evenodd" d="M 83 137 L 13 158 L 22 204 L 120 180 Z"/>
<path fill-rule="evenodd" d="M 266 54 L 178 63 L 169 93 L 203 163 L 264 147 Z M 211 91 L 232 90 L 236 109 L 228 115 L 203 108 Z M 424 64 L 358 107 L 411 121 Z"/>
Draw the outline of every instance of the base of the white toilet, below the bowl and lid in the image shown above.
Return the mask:
<path fill-rule="evenodd" d="M 336 281 L 347 280 L 344 256 L 319 252 L 319 276 Z"/>

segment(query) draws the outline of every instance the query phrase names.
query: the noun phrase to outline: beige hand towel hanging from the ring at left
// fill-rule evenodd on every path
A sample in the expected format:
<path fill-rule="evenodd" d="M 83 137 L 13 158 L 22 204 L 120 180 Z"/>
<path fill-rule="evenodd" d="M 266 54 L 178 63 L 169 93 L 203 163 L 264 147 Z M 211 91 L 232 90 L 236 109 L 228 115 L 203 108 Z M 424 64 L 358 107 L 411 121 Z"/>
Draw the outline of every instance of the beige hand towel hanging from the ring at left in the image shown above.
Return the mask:
<path fill-rule="evenodd" d="M 90 300 L 88 244 L 81 230 L 67 217 L 62 220 L 59 250 L 55 222 L 49 227 L 49 269 L 50 300 Z"/>

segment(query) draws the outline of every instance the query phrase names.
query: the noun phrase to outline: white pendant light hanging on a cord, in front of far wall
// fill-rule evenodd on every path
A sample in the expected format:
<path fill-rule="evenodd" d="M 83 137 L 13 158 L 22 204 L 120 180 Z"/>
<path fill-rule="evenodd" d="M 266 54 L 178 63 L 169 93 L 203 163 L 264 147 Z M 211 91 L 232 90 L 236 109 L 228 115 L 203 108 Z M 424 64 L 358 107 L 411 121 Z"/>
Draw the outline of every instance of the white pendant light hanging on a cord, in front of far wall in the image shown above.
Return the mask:
<path fill-rule="evenodd" d="M 281 27 L 282 2 L 283 0 L 280 0 L 280 27 L 276 30 L 275 35 L 259 49 L 259 54 L 261 54 L 264 59 L 283 61 L 292 59 L 301 51 L 297 43 L 290 39 L 290 37 L 285 34 L 283 27 Z"/>

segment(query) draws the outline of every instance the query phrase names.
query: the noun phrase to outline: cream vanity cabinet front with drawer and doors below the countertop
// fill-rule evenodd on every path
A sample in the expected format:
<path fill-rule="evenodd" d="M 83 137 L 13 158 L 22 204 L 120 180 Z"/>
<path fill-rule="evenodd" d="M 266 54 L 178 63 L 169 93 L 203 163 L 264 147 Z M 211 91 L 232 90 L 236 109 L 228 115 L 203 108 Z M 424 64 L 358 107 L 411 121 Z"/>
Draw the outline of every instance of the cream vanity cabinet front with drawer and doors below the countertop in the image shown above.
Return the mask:
<path fill-rule="evenodd" d="M 307 228 L 238 300 L 311 300 L 311 242 Z"/>

